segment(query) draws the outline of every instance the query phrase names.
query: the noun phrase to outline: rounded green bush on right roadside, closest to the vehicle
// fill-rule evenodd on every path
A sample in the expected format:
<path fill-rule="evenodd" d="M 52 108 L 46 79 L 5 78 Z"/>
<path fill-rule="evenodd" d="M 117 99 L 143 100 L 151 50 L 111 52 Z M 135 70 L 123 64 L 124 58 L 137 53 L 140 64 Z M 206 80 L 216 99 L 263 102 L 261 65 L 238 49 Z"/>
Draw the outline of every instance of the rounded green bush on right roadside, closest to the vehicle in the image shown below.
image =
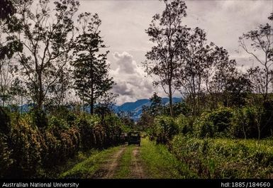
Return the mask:
<path fill-rule="evenodd" d="M 179 127 L 174 118 L 169 116 L 157 116 L 155 118 L 155 129 L 153 135 L 157 143 L 168 143 L 174 135 L 179 133 Z"/>

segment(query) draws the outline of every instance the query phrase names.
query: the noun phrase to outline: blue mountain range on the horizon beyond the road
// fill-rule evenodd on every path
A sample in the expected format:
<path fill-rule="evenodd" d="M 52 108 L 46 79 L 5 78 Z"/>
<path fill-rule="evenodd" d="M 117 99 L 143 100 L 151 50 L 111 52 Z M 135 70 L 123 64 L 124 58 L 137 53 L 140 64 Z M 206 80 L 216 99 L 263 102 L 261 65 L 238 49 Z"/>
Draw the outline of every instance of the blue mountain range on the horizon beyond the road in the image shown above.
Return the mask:
<path fill-rule="evenodd" d="M 182 101 L 182 98 L 174 97 L 172 98 L 173 103 L 177 103 Z M 167 105 L 169 104 L 169 98 L 162 98 L 162 104 Z M 139 99 L 135 102 L 126 102 L 122 104 L 121 106 L 114 105 L 113 111 L 115 111 L 116 114 L 120 112 L 125 113 L 131 113 L 134 120 L 138 120 L 140 118 L 142 112 L 143 112 L 143 106 L 150 106 L 151 102 L 150 99 Z"/>

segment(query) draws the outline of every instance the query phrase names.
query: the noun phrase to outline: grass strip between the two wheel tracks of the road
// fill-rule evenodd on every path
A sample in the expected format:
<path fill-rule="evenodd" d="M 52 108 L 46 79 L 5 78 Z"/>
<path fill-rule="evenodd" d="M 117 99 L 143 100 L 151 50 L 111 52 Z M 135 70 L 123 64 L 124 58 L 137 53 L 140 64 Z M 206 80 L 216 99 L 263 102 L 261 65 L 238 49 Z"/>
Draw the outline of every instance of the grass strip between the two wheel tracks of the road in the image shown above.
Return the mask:
<path fill-rule="evenodd" d="M 118 161 L 118 164 L 120 165 L 120 168 L 118 169 L 118 172 L 116 175 L 114 175 L 113 178 L 116 179 L 126 179 L 130 178 L 131 174 L 131 164 L 132 164 L 132 159 L 133 159 L 133 149 L 135 146 L 133 145 L 128 145 L 126 146 L 126 150 L 124 151 L 123 155 L 121 156 L 121 160 Z"/>

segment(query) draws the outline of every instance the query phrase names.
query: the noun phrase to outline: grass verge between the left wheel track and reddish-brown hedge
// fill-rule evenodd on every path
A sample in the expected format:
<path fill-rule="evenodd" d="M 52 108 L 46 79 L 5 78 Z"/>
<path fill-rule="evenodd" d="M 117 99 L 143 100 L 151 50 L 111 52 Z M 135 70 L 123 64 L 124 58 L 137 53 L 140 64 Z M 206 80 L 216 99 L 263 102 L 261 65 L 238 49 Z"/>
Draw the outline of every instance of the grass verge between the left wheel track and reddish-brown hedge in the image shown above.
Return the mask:
<path fill-rule="evenodd" d="M 106 158 L 111 157 L 111 155 L 116 153 L 120 148 L 121 146 L 103 151 L 94 150 L 85 160 L 74 165 L 71 169 L 62 172 L 60 178 L 91 178 L 94 176 L 96 170 L 99 170 L 99 167 L 101 167 Z"/>

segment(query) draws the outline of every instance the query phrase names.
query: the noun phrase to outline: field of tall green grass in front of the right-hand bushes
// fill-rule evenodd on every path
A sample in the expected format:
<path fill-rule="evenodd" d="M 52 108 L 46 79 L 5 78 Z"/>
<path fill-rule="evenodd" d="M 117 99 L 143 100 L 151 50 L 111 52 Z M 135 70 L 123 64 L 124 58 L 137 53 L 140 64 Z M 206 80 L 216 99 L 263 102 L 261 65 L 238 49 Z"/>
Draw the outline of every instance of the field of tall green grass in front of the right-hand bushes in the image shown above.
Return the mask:
<path fill-rule="evenodd" d="M 175 136 L 172 153 L 199 178 L 272 178 L 273 140 Z"/>

